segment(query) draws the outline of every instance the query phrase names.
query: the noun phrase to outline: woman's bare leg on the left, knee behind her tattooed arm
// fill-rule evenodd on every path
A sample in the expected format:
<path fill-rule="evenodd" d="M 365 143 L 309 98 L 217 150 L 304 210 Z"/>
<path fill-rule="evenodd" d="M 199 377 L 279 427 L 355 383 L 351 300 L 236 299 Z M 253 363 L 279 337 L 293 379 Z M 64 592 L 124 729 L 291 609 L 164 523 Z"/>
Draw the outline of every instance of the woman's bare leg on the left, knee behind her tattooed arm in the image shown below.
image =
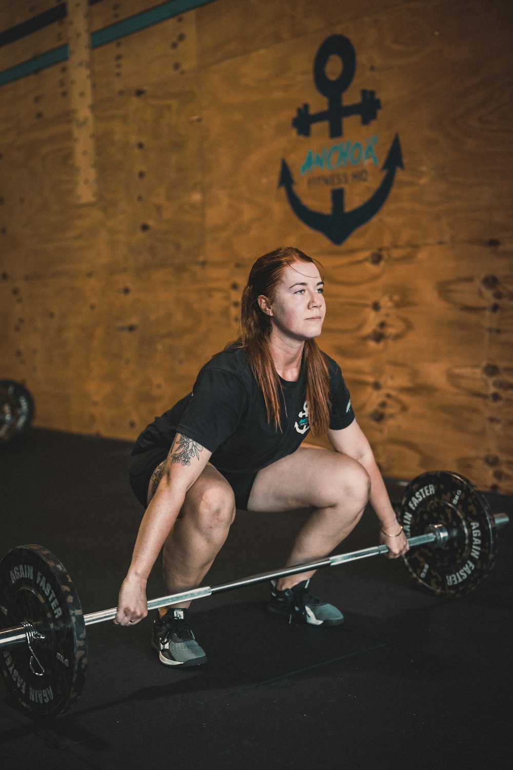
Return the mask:
<path fill-rule="evenodd" d="M 158 480 L 157 469 L 150 481 L 148 497 L 151 498 Z M 182 511 L 164 544 L 162 570 L 169 594 L 196 588 L 201 583 L 224 544 L 234 518 L 232 487 L 218 470 L 207 465 L 188 490 Z M 188 607 L 189 604 L 190 601 L 182 601 L 172 606 Z M 162 608 L 161 614 L 165 611 L 167 608 Z"/>

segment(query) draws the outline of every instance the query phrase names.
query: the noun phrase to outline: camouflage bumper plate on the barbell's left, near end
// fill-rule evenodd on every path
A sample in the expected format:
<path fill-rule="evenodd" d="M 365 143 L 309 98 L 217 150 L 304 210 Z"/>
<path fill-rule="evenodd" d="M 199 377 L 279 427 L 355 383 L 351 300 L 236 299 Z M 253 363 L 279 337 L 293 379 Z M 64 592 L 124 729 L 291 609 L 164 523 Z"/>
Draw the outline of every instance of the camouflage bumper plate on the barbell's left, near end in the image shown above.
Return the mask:
<path fill-rule="evenodd" d="M 85 623 L 71 578 L 60 561 L 38 546 L 13 548 L 0 562 L 0 626 L 28 621 L 44 635 L 0 652 L 5 683 L 22 711 L 57 717 L 82 692 L 87 666 Z"/>

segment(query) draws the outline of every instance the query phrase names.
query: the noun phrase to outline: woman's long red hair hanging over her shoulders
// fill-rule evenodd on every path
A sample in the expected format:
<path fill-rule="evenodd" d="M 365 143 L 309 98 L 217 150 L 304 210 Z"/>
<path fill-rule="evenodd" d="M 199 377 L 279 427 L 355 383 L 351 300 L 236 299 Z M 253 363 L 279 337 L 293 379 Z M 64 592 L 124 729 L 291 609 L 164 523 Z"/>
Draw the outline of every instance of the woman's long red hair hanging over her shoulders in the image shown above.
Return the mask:
<path fill-rule="evenodd" d="M 260 309 L 258 297 L 264 295 L 272 302 L 285 268 L 295 261 L 315 264 L 315 259 L 291 246 L 282 246 L 259 257 L 242 293 L 242 346 L 248 350 L 252 371 L 264 395 L 268 422 L 272 420 L 277 430 L 281 430 L 278 396 L 281 383 L 268 344 L 271 320 Z M 314 436 L 321 436 L 329 427 L 330 383 L 325 354 L 315 340 L 305 340 L 304 367 L 310 430 Z"/>

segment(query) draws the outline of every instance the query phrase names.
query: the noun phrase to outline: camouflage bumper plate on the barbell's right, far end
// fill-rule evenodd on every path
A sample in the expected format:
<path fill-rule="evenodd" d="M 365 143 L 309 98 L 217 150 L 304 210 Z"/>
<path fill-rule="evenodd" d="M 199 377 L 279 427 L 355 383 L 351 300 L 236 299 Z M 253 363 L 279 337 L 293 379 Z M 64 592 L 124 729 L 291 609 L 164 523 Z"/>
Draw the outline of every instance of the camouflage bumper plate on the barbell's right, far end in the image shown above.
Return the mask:
<path fill-rule="evenodd" d="M 453 536 L 444 547 L 408 551 L 405 563 L 418 586 L 455 597 L 485 581 L 497 551 L 495 520 L 468 479 L 443 470 L 421 474 L 405 487 L 399 507 L 406 537 L 430 524 L 443 524 Z"/>

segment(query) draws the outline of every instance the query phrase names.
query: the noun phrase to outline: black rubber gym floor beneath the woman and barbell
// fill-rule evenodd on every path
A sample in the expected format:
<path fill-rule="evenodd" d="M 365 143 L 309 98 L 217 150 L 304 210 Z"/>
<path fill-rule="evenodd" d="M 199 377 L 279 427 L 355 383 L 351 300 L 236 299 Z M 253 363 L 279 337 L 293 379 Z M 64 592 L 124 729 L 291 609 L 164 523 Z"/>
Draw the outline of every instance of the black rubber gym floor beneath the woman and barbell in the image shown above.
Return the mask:
<path fill-rule="evenodd" d="M 115 606 L 142 515 L 129 449 L 31 430 L 0 453 L 0 551 L 54 551 L 85 613 Z M 511 517 L 511 498 L 491 502 Z M 206 582 L 280 567 L 299 521 L 239 512 Z M 366 511 L 337 551 L 376 543 Z M 345 614 L 336 628 L 268 617 L 265 584 L 198 600 L 201 669 L 160 665 L 149 620 L 89 626 L 73 711 L 35 723 L 0 685 L 2 768 L 509 770 L 512 551 L 510 525 L 488 581 L 457 601 L 413 590 L 402 564 L 384 557 L 319 571 L 312 589 Z M 163 593 L 155 568 L 148 596 Z"/>

